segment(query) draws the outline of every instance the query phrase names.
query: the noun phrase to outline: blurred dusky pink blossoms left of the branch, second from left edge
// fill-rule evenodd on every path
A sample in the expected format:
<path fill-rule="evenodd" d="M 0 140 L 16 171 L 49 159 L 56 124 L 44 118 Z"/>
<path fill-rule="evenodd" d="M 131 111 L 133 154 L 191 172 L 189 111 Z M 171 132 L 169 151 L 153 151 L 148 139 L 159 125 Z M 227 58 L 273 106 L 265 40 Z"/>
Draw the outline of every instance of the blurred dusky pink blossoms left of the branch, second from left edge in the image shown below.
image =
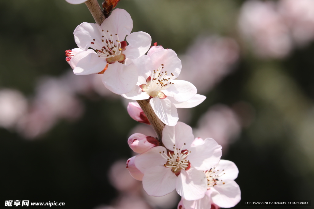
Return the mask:
<path fill-rule="evenodd" d="M 58 119 L 74 120 L 83 113 L 82 103 L 63 81 L 48 77 L 37 85 L 30 110 L 19 122 L 18 130 L 26 138 L 46 133 Z"/>

